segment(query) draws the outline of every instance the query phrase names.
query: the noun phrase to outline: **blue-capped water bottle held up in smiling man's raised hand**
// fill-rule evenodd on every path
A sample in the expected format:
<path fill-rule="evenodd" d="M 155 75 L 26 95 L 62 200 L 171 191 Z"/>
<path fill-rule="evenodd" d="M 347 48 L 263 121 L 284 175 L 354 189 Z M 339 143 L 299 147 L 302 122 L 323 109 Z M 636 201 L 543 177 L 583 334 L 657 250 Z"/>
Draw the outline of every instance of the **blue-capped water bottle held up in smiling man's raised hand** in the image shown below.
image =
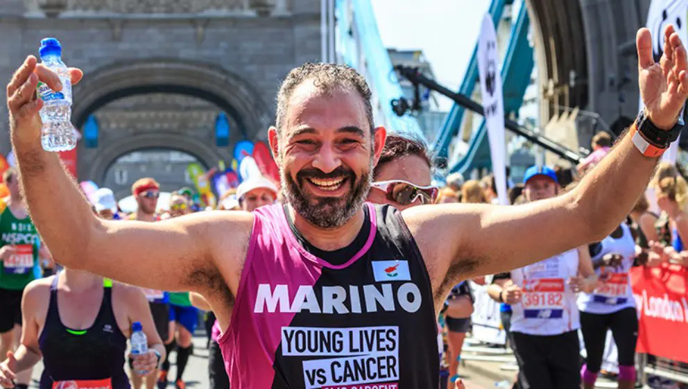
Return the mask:
<path fill-rule="evenodd" d="M 55 92 L 44 83 L 38 84 L 38 96 L 44 101 L 40 115 L 43 121 L 41 144 L 46 151 L 67 151 L 76 147 L 76 130 L 71 125 L 71 76 L 62 62 L 62 46 L 55 38 L 41 40 L 41 62 L 60 77 L 62 90 Z"/>

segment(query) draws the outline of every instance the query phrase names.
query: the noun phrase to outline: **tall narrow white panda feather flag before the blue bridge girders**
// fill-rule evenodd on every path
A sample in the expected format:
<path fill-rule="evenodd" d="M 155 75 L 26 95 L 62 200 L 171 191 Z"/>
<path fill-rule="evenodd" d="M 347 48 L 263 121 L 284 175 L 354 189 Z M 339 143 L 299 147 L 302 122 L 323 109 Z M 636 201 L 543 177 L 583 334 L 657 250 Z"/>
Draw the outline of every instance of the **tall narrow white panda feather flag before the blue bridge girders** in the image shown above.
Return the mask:
<path fill-rule="evenodd" d="M 508 205 L 506 196 L 506 141 L 504 139 L 504 95 L 501 92 L 501 67 L 497 51 L 497 33 L 490 14 L 485 14 L 478 38 L 480 92 L 488 126 L 492 172 L 497 184 L 499 204 Z"/>

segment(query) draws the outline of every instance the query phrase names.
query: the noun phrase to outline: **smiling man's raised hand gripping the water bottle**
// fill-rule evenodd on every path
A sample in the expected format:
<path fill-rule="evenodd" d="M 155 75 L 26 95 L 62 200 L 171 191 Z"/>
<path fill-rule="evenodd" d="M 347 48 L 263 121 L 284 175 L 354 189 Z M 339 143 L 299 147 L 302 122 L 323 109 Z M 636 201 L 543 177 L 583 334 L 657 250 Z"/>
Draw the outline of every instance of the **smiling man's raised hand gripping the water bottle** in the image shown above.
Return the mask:
<path fill-rule="evenodd" d="M 79 69 L 71 68 L 69 74 L 72 85 L 83 77 L 83 72 Z M 43 107 L 43 101 L 35 96 L 39 81 L 46 83 L 54 91 L 62 90 L 58 75 L 42 64 L 37 64 L 36 58 L 29 55 L 7 85 L 12 141 L 40 141 L 42 122 L 38 112 Z"/>

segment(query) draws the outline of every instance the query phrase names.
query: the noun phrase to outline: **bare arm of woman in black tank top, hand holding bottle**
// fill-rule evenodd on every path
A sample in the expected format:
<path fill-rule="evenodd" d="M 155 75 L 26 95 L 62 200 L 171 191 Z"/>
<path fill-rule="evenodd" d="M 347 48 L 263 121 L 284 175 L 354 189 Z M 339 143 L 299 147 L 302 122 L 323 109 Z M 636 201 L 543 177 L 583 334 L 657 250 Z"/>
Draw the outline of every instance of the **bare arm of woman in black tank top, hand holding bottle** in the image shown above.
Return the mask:
<path fill-rule="evenodd" d="M 162 344 L 162 338 L 157 334 L 153 313 L 150 313 L 150 305 L 144 292 L 132 286 L 126 286 L 126 288 L 126 298 L 129 306 L 129 327 L 131 328 L 134 322 L 141 322 L 141 328 L 148 339 L 148 353 L 140 355 L 130 354 L 130 358 L 134 360 L 134 371 L 153 374 L 155 370 L 160 368 L 160 363 L 165 360 L 165 346 Z M 160 358 L 158 355 L 160 355 Z"/>

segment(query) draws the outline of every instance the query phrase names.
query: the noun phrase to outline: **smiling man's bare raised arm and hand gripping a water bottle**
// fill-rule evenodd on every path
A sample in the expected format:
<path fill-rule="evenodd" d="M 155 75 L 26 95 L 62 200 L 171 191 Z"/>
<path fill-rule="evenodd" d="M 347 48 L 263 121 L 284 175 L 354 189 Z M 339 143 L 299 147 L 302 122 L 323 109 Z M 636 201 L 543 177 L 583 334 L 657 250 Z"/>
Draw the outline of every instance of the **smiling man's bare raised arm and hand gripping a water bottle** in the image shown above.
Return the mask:
<path fill-rule="evenodd" d="M 72 69 L 72 76 L 78 81 L 80 71 Z M 55 261 L 168 291 L 203 293 L 222 282 L 216 267 L 220 255 L 225 279 L 239 273 L 250 214 L 213 212 L 160 223 L 96 218 L 58 155 L 41 146 L 42 101 L 32 99 L 39 78 L 61 89 L 53 72 L 28 57 L 7 87 L 10 130 L 28 209 Z"/>

